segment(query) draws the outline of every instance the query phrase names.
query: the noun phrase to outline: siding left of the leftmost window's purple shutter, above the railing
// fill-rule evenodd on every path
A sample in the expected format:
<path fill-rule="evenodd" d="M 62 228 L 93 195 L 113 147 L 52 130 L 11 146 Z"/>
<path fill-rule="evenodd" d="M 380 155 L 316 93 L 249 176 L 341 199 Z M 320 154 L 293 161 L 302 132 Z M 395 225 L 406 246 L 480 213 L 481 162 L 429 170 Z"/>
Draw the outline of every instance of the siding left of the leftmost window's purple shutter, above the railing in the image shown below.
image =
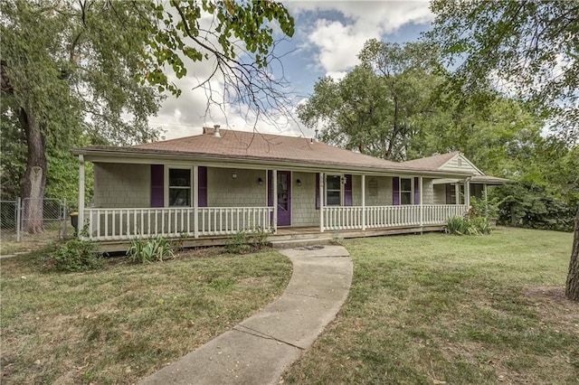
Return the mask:
<path fill-rule="evenodd" d="M 149 164 L 94 164 L 95 207 L 149 207 Z"/>

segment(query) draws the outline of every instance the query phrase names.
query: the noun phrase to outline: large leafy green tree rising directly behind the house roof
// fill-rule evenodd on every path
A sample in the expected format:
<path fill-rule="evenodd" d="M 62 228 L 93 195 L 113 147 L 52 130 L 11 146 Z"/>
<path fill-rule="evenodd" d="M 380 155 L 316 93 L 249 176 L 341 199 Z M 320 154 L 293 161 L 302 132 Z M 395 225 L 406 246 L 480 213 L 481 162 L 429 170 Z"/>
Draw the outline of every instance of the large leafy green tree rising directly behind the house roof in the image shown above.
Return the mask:
<path fill-rule="evenodd" d="M 299 106 L 299 119 L 308 127 L 321 125 L 328 143 L 404 160 L 440 79 L 433 74 L 433 54 L 422 43 L 370 40 L 358 56 L 360 65 L 343 80 L 318 81 L 312 97 Z"/>

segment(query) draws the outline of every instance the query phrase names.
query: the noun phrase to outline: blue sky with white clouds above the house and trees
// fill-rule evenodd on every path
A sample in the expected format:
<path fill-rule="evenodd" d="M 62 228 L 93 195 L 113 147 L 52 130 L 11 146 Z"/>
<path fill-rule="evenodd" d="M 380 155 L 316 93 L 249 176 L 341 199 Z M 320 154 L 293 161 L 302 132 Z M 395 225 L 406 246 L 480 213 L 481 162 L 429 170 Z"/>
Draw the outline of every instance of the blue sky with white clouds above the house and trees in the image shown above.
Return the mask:
<path fill-rule="evenodd" d="M 340 79 L 357 64 L 357 54 L 368 39 L 384 42 L 412 42 L 430 30 L 433 15 L 427 1 L 282 1 L 295 20 L 295 33 L 276 46 L 283 74 L 289 82 L 294 104 L 303 102 L 313 92 L 318 79 Z M 280 68 L 279 68 L 280 69 Z M 280 76 L 274 73 L 275 76 Z M 209 73 L 207 63 L 188 66 L 188 73 L 203 79 Z M 171 74 L 168 75 L 171 79 Z M 289 136 L 313 136 L 313 131 L 299 124 L 295 116 L 282 117 L 277 124 L 257 119 L 239 108 L 207 107 L 203 89 L 192 90 L 195 78 L 175 80 L 182 89 L 179 98 L 169 96 L 151 127 L 164 130 L 162 138 L 172 139 L 201 134 L 203 127 L 219 124 L 226 129 L 274 133 Z M 212 80 L 214 89 L 223 81 Z M 289 106 L 291 109 L 292 106 Z"/>

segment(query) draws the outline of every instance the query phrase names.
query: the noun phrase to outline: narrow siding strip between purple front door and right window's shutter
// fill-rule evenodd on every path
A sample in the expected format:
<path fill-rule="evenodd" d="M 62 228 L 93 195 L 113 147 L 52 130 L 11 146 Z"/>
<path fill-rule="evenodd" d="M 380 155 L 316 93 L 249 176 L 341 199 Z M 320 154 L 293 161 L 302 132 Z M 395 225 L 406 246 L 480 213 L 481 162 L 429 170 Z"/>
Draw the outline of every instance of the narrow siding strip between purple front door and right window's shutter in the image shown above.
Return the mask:
<path fill-rule="evenodd" d="M 299 186 L 296 182 L 301 181 Z M 291 225 L 318 226 L 319 210 L 316 210 L 316 174 L 291 173 Z"/>

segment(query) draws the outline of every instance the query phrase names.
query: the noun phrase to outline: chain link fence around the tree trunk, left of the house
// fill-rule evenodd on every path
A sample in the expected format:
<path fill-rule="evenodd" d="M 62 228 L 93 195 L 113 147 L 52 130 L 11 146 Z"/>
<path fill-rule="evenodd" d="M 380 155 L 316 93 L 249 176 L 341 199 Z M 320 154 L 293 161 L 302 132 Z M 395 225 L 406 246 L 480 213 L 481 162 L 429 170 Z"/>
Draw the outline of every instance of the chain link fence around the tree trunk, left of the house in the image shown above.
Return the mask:
<path fill-rule="evenodd" d="M 0 239 L 50 241 L 71 236 L 71 208 L 66 200 L 19 199 L 0 201 Z"/>

